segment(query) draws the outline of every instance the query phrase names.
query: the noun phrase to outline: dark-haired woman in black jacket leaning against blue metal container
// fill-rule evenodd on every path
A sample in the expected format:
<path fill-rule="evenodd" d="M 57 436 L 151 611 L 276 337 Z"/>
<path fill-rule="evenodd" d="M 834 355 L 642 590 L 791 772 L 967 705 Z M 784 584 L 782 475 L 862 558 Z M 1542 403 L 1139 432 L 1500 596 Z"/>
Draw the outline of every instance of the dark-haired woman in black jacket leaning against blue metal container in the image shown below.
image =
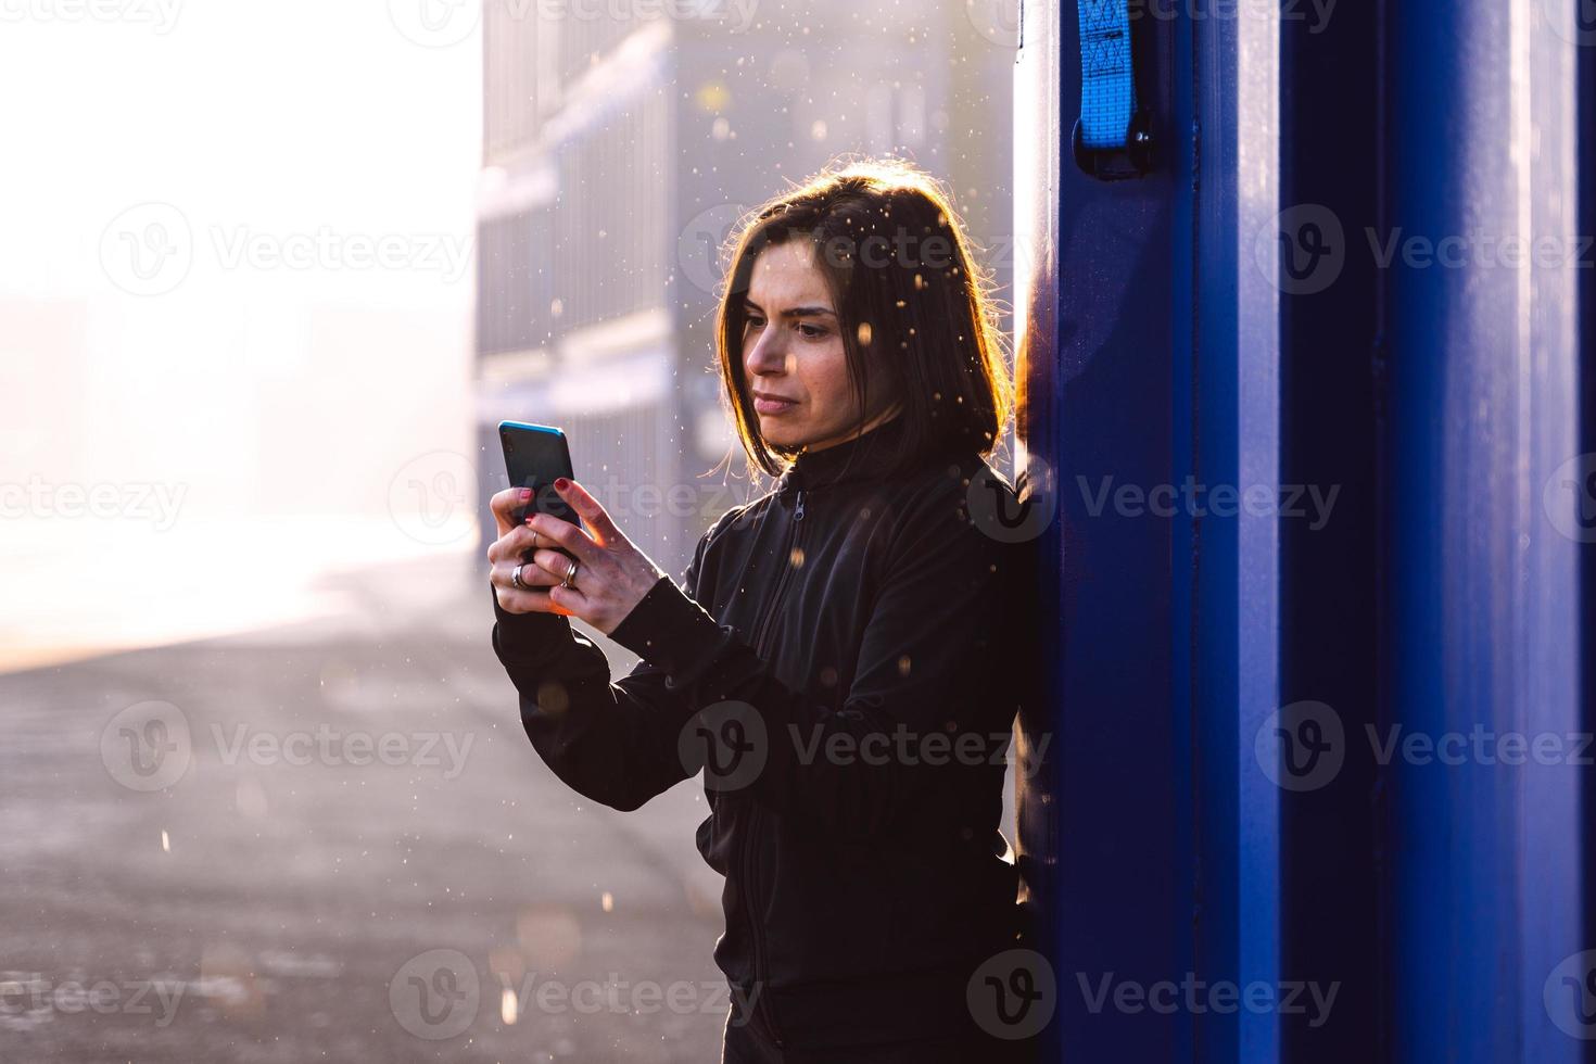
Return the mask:
<path fill-rule="evenodd" d="M 969 992 L 1015 944 L 1004 621 L 1031 584 L 972 515 L 1009 491 L 983 458 L 1013 404 L 946 195 L 871 161 L 764 204 L 717 346 L 750 467 L 779 480 L 715 522 L 681 587 L 578 483 L 555 490 L 584 528 L 514 526 L 525 493 L 493 499 L 493 644 L 527 734 L 616 809 L 707 763 L 726 1061 L 996 1059 L 1013 1043 Z M 567 616 L 642 662 L 611 683 Z"/>

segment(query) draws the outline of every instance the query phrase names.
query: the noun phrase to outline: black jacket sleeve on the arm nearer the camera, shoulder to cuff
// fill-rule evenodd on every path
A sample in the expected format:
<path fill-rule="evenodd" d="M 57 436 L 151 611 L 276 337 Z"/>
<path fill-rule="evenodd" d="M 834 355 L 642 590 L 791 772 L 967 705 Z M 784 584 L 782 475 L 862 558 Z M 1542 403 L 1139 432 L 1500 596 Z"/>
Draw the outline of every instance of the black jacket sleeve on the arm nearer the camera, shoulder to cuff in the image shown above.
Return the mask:
<path fill-rule="evenodd" d="M 755 719 L 723 737 L 744 750 L 758 743 L 764 761 L 752 780 L 728 774 L 726 783 L 795 823 L 871 839 L 916 820 L 948 823 L 950 814 L 978 820 L 962 783 L 1001 778 L 1020 691 L 1012 648 L 1018 629 L 1036 622 L 1025 593 L 1034 581 L 1021 569 L 1029 544 L 999 542 L 970 523 L 962 493 L 930 496 L 900 522 L 839 711 L 777 680 L 667 579 L 613 633 L 691 707 L 744 703 Z M 721 761 L 731 755 L 728 747 Z"/>

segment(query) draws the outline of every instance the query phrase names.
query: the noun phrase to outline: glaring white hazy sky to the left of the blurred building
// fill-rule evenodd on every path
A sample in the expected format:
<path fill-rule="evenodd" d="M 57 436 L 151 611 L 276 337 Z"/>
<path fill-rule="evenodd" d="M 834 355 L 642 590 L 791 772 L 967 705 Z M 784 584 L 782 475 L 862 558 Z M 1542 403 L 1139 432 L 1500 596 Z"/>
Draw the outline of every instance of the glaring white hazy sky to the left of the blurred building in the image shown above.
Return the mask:
<path fill-rule="evenodd" d="M 421 13 L 0 0 L 8 641 L 80 638 L 91 565 L 83 638 L 139 641 L 474 549 L 389 514 L 472 447 L 480 19 Z M 251 554 L 276 585 L 223 605 Z"/>

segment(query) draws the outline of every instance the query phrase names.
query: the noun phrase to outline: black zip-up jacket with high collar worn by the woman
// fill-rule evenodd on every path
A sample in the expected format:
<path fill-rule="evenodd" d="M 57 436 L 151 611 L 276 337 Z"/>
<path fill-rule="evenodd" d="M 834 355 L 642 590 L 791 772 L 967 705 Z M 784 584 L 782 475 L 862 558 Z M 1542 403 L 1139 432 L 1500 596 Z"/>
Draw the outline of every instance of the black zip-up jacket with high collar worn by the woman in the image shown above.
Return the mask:
<path fill-rule="evenodd" d="M 715 960 L 796 1046 L 967 1026 L 970 973 L 1017 930 L 998 825 L 1031 554 L 972 520 L 972 477 L 1009 491 L 978 456 L 887 475 L 899 431 L 801 455 L 715 522 L 685 593 L 661 577 L 611 633 L 643 659 L 619 681 L 565 617 L 495 601 L 571 788 L 635 809 L 704 753 L 729 767 L 697 830 L 726 877 Z"/>

